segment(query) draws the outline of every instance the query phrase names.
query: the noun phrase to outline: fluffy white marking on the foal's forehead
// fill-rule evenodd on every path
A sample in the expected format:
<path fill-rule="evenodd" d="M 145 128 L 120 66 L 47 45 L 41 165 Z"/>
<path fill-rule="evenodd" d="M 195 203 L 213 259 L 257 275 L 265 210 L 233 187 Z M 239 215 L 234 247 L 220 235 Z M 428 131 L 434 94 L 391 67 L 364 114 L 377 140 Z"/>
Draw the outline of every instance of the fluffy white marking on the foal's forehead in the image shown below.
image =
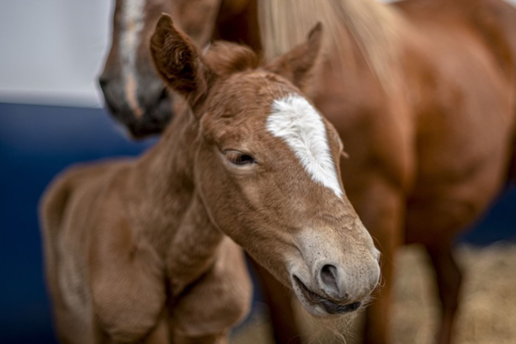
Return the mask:
<path fill-rule="evenodd" d="M 289 94 L 272 102 L 267 130 L 287 143 L 315 182 L 342 198 L 326 126 L 321 115 L 306 99 L 298 94 Z"/>

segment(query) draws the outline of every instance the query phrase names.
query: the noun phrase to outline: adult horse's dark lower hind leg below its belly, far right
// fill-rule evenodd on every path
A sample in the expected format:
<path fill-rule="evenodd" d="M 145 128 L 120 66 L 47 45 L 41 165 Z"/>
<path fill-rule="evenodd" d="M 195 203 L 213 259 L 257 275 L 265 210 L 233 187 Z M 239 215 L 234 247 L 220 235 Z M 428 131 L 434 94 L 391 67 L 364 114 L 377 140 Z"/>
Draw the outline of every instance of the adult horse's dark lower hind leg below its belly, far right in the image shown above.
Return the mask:
<path fill-rule="evenodd" d="M 442 304 L 441 327 L 437 336 L 438 344 L 451 342 L 455 313 L 459 304 L 462 274 L 451 252 L 451 243 L 427 244 L 426 250 L 436 270 L 439 298 Z"/>

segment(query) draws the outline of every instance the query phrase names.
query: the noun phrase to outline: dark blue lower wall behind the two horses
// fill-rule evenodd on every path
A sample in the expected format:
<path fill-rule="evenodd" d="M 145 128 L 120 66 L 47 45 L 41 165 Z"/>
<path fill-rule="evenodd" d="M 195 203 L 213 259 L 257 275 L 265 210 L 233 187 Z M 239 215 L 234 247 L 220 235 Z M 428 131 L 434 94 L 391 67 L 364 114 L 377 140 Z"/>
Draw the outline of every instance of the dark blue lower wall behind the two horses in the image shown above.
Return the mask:
<path fill-rule="evenodd" d="M 0 342 L 55 342 L 43 283 L 37 204 L 52 177 L 76 161 L 137 155 L 103 110 L 0 103 Z M 516 239 L 516 190 L 461 240 Z"/>

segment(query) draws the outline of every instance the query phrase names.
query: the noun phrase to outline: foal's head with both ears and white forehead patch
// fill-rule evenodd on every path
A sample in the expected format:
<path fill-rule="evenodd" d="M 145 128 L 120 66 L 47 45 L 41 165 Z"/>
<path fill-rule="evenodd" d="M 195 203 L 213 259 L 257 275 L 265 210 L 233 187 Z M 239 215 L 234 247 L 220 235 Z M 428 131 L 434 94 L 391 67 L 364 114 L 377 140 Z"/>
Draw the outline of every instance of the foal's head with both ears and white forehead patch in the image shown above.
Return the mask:
<path fill-rule="evenodd" d="M 307 42 L 258 67 L 250 50 L 229 43 L 203 57 L 164 15 L 151 52 L 198 121 L 191 158 L 212 222 L 293 288 L 310 313 L 325 316 L 356 310 L 379 266 L 342 187 L 341 141 L 302 95 L 320 38 L 317 26 Z"/>

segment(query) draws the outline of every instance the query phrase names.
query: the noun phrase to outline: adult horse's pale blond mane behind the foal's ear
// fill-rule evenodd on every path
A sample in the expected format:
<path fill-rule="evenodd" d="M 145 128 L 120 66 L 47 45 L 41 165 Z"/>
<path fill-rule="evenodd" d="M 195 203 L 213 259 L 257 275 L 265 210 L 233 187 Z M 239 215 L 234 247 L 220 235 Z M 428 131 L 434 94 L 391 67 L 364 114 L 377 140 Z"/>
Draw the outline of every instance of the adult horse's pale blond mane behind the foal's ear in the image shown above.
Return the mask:
<path fill-rule="evenodd" d="M 305 40 L 318 21 L 325 30 L 326 50 L 336 49 L 341 63 L 350 53 L 342 25 L 360 47 L 383 86 L 392 84 L 391 68 L 400 51 L 404 21 L 396 10 L 378 0 L 261 0 L 262 44 L 266 57 L 285 53 Z"/>

